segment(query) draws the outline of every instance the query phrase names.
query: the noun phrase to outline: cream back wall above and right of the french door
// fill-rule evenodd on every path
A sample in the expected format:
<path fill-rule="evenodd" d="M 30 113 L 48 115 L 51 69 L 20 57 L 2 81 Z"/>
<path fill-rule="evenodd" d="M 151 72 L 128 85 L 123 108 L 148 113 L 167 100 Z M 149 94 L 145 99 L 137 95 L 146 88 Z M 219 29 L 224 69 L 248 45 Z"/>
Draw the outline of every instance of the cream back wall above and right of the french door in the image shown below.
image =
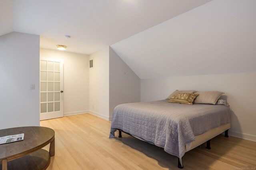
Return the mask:
<path fill-rule="evenodd" d="M 41 48 L 40 57 L 63 60 L 64 115 L 88 113 L 89 56 Z"/>

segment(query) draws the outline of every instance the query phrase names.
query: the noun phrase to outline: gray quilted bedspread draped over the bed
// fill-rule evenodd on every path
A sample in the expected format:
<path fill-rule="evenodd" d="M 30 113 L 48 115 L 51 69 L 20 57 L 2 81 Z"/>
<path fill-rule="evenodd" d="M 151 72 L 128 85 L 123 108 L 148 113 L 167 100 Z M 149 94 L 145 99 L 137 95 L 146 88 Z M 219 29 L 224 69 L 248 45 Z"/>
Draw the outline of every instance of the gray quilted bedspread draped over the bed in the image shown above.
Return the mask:
<path fill-rule="evenodd" d="M 230 108 L 210 104 L 172 104 L 168 100 L 120 104 L 112 117 L 110 138 L 122 129 L 182 158 L 186 144 L 214 127 L 230 123 Z"/>

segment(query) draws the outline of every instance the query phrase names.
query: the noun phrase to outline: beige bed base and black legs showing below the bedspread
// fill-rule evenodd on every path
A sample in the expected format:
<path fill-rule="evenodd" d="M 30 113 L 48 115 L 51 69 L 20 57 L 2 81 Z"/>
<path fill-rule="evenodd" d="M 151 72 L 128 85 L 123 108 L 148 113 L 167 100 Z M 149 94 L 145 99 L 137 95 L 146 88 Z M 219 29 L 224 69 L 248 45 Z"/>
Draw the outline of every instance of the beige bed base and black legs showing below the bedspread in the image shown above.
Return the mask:
<path fill-rule="evenodd" d="M 201 135 L 196 135 L 195 141 L 191 143 L 190 147 L 186 145 L 186 152 L 198 147 L 199 145 L 202 145 L 205 142 L 206 142 L 206 149 L 211 149 L 210 147 L 211 139 L 216 137 L 217 135 L 220 135 L 223 132 L 225 132 L 225 137 L 228 137 L 228 129 L 230 129 L 230 123 L 225 125 L 220 125 L 219 127 L 210 129 L 209 131 L 202 133 Z M 119 135 L 118 135 L 119 138 L 122 137 L 122 132 L 134 137 L 133 135 L 123 131 L 122 129 L 117 129 L 117 130 L 119 131 Z M 138 138 L 138 137 L 135 137 L 135 138 Z M 143 139 L 140 139 L 140 140 L 144 141 Z M 181 168 L 181 169 L 183 168 L 183 166 L 180 164 L 180 158 L 178 158 L 178 168 Z"/>

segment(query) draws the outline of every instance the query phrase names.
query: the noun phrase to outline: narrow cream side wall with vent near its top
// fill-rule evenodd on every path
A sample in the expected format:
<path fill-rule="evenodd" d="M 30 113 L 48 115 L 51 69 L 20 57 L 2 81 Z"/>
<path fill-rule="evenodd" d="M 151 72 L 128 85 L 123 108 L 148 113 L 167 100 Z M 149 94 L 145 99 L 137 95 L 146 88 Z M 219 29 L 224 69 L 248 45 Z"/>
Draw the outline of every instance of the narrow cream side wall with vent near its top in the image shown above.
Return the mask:
<path fill-rule="evenodd" d="M 90 55 L 89 68 L 90 113 L 109 120 L 109 47 Z"/>

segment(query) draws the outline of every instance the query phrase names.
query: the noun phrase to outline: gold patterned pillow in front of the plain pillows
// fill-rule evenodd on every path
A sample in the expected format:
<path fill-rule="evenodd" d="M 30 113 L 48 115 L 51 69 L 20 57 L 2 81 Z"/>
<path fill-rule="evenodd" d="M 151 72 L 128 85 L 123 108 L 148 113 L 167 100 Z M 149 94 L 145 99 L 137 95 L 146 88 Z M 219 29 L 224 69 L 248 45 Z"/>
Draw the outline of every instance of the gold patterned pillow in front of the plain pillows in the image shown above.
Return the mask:
<path fill-rule="evenodd" d="M 168 102 L 170 103 L 180 103 L 180 104 L 193 104 L 194 99 L 198 94 L 193 93 L 176 93 Z"/>

